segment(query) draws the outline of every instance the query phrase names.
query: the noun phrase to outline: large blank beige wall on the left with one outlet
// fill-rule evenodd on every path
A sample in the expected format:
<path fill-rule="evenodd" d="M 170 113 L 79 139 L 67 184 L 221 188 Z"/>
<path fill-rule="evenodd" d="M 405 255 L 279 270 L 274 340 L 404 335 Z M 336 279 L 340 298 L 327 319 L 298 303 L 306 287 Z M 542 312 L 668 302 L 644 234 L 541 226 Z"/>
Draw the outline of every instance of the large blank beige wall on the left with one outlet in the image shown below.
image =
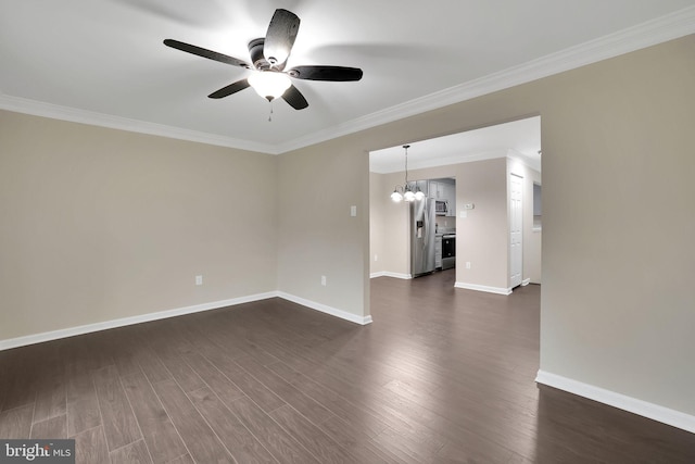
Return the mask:
<path fill-rule="evenodd" d="M 0 111 L 0 341 L 276 290 L 276 156 Z"/>

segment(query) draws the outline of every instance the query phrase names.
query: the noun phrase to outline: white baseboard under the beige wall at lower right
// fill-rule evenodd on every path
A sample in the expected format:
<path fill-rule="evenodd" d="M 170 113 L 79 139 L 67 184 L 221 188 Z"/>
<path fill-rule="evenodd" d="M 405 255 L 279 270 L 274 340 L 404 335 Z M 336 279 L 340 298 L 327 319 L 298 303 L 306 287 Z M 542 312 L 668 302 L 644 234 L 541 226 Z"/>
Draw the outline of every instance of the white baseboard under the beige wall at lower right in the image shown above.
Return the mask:
<path fill-rule="evenodd" d="M 539 371 L 535 381 L 695 434 L 695 416 L 571 378 Z"/>

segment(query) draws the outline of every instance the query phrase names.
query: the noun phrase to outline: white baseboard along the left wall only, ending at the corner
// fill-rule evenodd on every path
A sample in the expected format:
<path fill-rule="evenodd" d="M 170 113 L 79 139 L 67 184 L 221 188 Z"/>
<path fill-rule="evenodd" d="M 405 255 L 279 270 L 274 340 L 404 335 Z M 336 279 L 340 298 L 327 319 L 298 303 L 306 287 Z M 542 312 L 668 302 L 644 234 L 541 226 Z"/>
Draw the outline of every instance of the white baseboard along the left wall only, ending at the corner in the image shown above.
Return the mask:
<path fill-rule="evenodd" d="M 134 324 L 141 324 L 151 321 L 165 319 L 168 317 L 181 316 L 185 314 L 200 313 L 203 311 L 217 310 L 220 308 L 235 306 L 237 304 L 250 303 L 253 301 L 275 298 L 278 293 L 269 291 L 267 293 L 251 294 L 248 297 L 232 298 L 230 300 L 213 301 L 210 303 L 194 304 L 192 306 L 178 308 L 175 310 L 160 311 L 156 313 L 140 314 L 137 316 L 123 317 L 118 319 L 105 321 L 101 323 L 87 324 L 77 327 L 70 327 L 60 330 L 45 331 L 42 334 L 27 335 L 24 337 L 0 340 L 0 351 L 9 350 L 27 344 L 41 343 L 45 341 L 58 340 L 60 338 L 74 337 L 76 335 L 90 334 L 92 331 L 108 330 L 116 327 L 124 327 Z"/>

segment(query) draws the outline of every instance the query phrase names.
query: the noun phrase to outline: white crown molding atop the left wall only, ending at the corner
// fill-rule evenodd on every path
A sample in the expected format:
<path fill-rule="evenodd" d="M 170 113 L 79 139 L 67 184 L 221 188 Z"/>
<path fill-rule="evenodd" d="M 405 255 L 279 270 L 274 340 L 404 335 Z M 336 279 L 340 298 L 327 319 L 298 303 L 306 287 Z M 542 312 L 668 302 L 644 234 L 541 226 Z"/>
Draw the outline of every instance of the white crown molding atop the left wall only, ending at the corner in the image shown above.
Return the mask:
<path fill-rule="evenodd" d="M 50 117 L 53 120 L 70 121 L 72 123 L 109 127 L 112 129 L 127 130 L 130 133 L 148 134 L 178 140 L 214 145 L 218 147 L 228 147 L 268 154 L 278 154 L 277 148 L 269 143 L 258 143 L 250 140 L 241 140 L 216 134 L 184 129 L 181 127 L 166 126 L 164 124 L 113 116 L 110 114 L 97 113 L 93 111 L 79 110 L 76 108 L 62 106 L 37 100 L 12 97 L 5 93 L 0 93 L 0 110 L 31 114 L 34 116 Z"/>

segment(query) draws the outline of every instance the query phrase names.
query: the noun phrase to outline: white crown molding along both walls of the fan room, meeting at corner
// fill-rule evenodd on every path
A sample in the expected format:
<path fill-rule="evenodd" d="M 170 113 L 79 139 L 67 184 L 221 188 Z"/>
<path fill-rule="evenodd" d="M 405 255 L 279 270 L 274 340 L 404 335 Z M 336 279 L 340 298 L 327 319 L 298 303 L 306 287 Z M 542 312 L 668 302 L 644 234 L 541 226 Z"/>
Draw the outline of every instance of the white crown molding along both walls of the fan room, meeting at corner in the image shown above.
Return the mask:
<path fill-rule="evenodd" d="M 270 145 L 215 134 L 172 127 L 127 117 L 61 106 L 0 93 L 0 109 L 55 120 L 149 134 L 219 147 L 281 154 L 337 137 L 392 123 L 427 111 L 470 100 L 494 91 L 530 83 L 565 71 L 596 63 L 668 40 L 695 34 L 695 7 L 657 17 L 595 40 L 570 47 L 525 64 L 490 74 L 405 103 L 396 104 L 362 117 L 299 137 L 285 143 Z"/>

